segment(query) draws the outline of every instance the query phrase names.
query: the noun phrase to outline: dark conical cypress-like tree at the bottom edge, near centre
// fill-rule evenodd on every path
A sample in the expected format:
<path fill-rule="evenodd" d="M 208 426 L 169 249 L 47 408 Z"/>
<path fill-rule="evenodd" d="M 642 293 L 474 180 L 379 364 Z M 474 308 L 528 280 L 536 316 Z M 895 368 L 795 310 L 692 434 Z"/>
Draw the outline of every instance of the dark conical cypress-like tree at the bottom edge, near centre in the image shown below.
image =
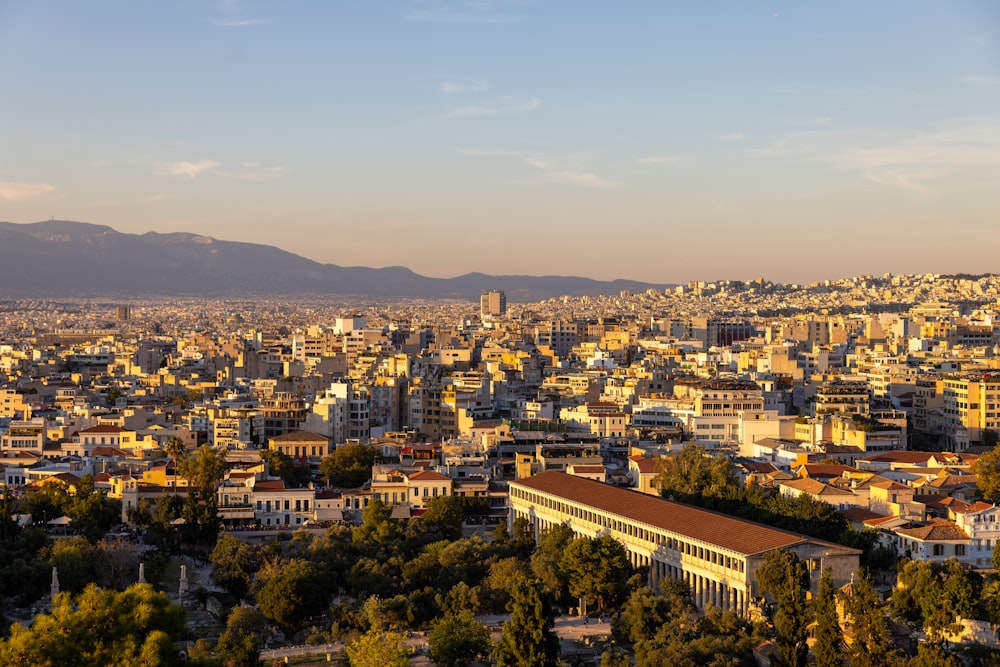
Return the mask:
<path fill-rule="evenodd" d="M 553 632 L 555 616 L 549 596 L 541 587 L 523 581 L 514 587 L 510 620 L 493 650 L 497 667 L 555 667 L 559 663 L 559 638 Z"/>

